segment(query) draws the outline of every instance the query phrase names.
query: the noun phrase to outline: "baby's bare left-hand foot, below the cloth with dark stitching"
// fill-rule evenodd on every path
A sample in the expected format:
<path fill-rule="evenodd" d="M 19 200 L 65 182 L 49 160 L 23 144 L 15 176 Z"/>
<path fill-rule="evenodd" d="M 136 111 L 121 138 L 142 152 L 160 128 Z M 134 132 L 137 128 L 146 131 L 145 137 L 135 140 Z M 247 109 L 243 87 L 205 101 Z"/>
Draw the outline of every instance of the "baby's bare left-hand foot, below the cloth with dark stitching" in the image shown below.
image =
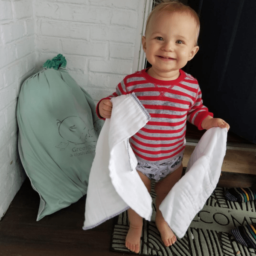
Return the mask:
<path fill-rule="evenodd" d="M 142 227 L 129 227 L 125 246 L 133 251 L 134 253 L 140 252 L 140 237 L 141 237 Z"/>

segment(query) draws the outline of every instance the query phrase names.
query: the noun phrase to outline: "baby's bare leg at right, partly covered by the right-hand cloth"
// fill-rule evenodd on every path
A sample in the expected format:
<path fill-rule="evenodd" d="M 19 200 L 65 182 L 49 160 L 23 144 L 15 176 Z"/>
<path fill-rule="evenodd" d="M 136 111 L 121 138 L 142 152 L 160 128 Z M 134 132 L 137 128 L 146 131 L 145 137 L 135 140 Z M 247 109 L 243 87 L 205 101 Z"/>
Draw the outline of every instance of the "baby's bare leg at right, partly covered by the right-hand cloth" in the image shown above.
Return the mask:
<path fill-rule="evenodd" d="M 155 191 L 157 193 L 156 198 L 156 226 L 160 232 L 161 238 L 165 246 L 169 247 L 177 241 L 176 236 L 170 229 L 169 225 L 163 218 L 162 212 L 159 210 L 159 206 L 166 195 L 172 189 L 172 187 L 180 180 L 183 166 L 181 165 L 177 170 L 167 175 L 163 180 L 155 183 Z"/>

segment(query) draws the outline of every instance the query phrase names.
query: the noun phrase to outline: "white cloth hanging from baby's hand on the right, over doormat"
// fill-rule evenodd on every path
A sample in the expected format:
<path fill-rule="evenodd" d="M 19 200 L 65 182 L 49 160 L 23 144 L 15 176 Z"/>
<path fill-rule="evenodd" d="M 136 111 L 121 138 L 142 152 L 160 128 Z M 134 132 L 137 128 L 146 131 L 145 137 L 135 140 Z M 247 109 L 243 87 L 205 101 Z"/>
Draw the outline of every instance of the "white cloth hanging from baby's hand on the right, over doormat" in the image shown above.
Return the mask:
<path fill-rule="evenodd" d="M 186 174 L 173 186 L 159 209 L 177 237 L 182 238 L 195 215 L 204 207 L 221 175 L 227 129 L 205 132 L 193 151 Z"/>

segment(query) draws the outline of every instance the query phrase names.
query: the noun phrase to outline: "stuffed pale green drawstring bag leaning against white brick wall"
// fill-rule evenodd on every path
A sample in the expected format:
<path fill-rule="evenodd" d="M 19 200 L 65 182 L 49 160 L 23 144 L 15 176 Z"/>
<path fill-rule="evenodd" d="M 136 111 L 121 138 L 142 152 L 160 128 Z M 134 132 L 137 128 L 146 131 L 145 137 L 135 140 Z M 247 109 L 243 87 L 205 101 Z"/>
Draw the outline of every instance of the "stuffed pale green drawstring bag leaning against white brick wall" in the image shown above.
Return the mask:
<path fill-rule="evenodd" d="M 20 159 L 40 195 L 37 221 L 87 193 L 103 121 L 59 54 L 27 79 L 17 103 Z"/>

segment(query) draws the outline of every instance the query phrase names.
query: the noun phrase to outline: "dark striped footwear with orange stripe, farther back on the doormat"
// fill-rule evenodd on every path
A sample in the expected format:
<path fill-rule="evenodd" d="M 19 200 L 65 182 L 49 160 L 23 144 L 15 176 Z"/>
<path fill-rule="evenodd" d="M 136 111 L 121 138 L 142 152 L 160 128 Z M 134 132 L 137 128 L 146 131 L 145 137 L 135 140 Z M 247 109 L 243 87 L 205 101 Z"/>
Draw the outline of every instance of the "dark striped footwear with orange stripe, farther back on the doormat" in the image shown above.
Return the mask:
<path fill-rule="evenodd" d="M 256 190 L 252 188 L 226 189 L 224 195 L 227 200 L 239 203 L 256 200 Z"/>

